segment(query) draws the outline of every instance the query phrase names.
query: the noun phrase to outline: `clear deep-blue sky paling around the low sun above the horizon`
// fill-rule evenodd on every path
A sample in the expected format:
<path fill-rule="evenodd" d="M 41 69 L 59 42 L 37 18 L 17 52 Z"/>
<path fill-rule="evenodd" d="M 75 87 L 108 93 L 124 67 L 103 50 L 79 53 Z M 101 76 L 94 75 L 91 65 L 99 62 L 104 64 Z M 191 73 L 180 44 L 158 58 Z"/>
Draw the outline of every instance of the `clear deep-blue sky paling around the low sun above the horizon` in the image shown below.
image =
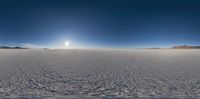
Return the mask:
<path fill-rule="evenodd" d="M 198 0 L 0 0 L 0 45 L 200 45 Z"/>

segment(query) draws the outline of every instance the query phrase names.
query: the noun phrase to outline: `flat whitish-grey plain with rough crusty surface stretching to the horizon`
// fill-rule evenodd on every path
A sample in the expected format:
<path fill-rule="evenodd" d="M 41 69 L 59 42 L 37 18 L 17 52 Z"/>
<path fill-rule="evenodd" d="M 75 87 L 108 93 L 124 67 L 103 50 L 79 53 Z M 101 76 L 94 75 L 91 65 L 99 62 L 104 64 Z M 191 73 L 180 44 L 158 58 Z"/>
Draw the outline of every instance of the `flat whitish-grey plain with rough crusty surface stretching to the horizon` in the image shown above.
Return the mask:
<path fill-rule="evenodd" d="M 7 96 L 200 97 L 200 50 L 1 49 Z"/>

